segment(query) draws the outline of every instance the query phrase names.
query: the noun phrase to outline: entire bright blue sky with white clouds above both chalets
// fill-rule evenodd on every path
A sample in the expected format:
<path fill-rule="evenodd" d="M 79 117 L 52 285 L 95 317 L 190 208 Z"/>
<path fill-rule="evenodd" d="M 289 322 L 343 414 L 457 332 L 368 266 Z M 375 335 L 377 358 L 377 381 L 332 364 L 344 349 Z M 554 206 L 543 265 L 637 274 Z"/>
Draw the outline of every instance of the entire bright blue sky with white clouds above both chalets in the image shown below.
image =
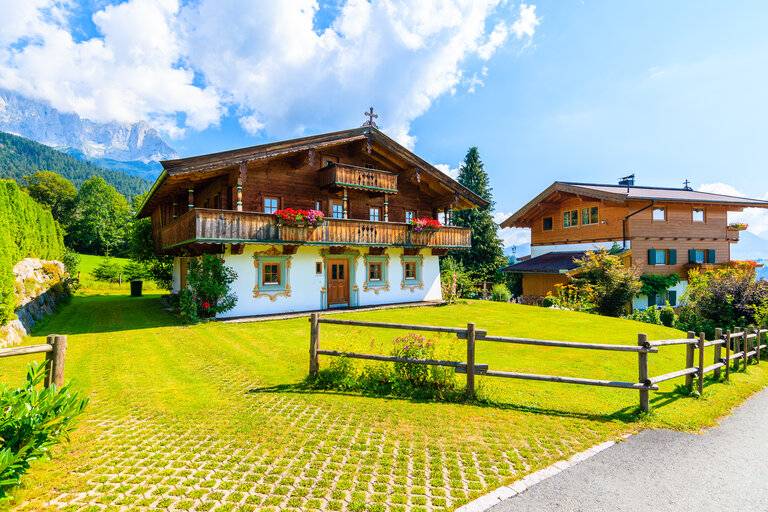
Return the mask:
<path fill-rule="evenodd" d="M 10 3 L 0 86 L 147 120 L 183 155 L 356 126 L 372 104 L 435 164 L 478 146 L 500 215 L 554 180 L 630 172 L 768 194 L 766 2 Z"/>

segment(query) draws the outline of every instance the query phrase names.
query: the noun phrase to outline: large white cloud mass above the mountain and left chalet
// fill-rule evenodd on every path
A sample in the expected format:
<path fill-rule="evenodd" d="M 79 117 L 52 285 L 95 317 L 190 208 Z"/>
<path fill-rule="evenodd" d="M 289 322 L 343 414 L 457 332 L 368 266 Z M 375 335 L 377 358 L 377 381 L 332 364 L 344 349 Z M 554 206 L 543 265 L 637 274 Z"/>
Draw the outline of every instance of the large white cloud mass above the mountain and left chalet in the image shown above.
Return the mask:
<path fill-rule="evenodd" d="M 0 87 L 177 134 L 232 112 L 250 133 L 297 135 L 358 125 L 373 105 L 411 146 L 414 119 L 467 75 L 474 90 L 485 72 L 473 66 L 539 23 L 535 6 L 512 12 L 504 0 L 346 0 L 322 30 L 315 0 L 128 0 L 95 12 L 98 34 L 78 40 L 68 6 L 0 0 L 11 16 Z"/>

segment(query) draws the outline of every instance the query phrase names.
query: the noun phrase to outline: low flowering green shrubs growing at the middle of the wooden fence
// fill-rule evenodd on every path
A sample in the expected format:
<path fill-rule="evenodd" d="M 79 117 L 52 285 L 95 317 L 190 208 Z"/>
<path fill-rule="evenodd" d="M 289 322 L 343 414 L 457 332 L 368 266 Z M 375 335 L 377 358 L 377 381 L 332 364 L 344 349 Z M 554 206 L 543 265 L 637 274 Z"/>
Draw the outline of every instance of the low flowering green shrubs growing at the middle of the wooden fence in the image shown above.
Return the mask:
<path fill-rule="evenodd" d="M 393 340 L 390 355 L 403 359 L 436 359 L 435 341 L 409 333 Z M 463 399 L 454 371 L 442 366 L 397 362 L 368 365 L 358 372 L 340 357 L 308 381 L 312 387 L 366 394 L 455 401 Z"/>

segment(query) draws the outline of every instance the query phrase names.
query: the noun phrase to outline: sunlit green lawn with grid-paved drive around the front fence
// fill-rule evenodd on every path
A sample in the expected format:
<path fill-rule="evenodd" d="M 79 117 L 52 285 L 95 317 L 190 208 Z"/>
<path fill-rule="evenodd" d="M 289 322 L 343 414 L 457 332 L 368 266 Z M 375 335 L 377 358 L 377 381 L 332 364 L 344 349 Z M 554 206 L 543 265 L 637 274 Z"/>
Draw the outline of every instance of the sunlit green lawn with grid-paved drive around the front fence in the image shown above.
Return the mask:
<path fill-rule="evenodd" d="M 111 290 L 114 292 L 114 290 Z M 671 329 L 528 306 L 470 302 L 345 314 L 461 326 L 499 335 L 635 344 Z M 594 444 L 644 427 L 698 429 L 768 383 L 768 365 L 708 383 L 702 399 L 479 377 L 497 405 L 309 392 L 306 319 L 179 325 L 158 296 L 79 295 L 40 325 L 69 335 L 66 375 L 91 403 L 71 444 L 36 464 L 22 510 L 452 510 Z M 322 346 L 386 354 L 398 331 L 322 325 Z M 463 342 L 436 336 L 441 356 Z M 708 358 L 711 354 L 707 354 Z M 29 357 L 27 359 L 32 359 Z M 462 358 L 463 359 L 463 358 Z M 3 360 L 21 379 L 25 358 Z M 650 355 L 651 373 L 681 367 L 679 347 Z M 321 357 L 321 366 L 328 358 Z M 493 369 L 635 380 L 634 354 L 478 342 Z"/>

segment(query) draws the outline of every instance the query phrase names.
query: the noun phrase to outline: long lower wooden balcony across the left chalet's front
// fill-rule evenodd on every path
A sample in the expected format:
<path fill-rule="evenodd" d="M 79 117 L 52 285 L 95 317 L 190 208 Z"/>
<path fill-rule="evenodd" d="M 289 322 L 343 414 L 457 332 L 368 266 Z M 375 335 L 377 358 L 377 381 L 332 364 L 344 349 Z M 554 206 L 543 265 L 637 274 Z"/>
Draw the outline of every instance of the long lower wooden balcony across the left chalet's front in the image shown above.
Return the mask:
<path fill-rule="evenodd" d="M 413 233 L 408 224 L 356 219 L 326 219 L 317 228 L 278 227 L 274 215 L 194 208 L 164 226 L 160 245 L 171 249 L 192 243 L 276 243 L 394 247 L 469 248 L 470 230 L 444 226 Z"/>

